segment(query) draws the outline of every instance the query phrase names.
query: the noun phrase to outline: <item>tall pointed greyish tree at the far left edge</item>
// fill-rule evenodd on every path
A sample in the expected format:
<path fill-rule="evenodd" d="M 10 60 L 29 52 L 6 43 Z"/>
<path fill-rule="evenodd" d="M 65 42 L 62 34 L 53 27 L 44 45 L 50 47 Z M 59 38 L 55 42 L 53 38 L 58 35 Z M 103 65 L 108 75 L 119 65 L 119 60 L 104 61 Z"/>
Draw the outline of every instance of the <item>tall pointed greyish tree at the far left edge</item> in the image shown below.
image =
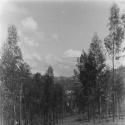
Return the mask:
<path fill-rule="evenodd" d="M 2 83 L 4 83 L 5 87 L 11 92 L 11 99 L 13 100 L 13 104 L 11 104 L 9 110 L 12 111 L 9 114 L 13 116 L 13 122 L 15 122 L 16 119 L 16 105 L 18 105 L 16 103 L 16 95 L 19 94 L 19 70 L 17 65 L 22 61 L 22 53 L 18 46 L 17 30 L 16 27 L 12 25 L 8 27 L 8 37 L 2 48 L 2 55 L 0 61 L 0 80 Z"/>

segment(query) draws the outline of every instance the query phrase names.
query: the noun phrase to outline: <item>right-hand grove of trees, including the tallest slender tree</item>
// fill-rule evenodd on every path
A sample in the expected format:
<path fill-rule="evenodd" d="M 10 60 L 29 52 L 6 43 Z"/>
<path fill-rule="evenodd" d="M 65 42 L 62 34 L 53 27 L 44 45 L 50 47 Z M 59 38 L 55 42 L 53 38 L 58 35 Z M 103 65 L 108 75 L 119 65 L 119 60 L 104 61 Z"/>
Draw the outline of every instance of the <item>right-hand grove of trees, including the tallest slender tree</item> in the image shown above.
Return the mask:
<path fill-rule="evenodd" d="M 124 15 L 116 4 L 111 7 L 109 17 L 109 34 L 104 42 L 94 35 L 88 52 L 82 52 L 78 58 L 75 76 L 82 84 L 75 93 L 79 111 L 91 119 L 107 119 L 120 117 L 124 113 L 124 77 L 117 67 L 124 40 Z M 105 51 L 104 51 L 105 50 Z M 107 58 L 108 56 L 108 58 Z M 111 60 L 110 66 L 106 63 Z M 122 70 L 123 70 L 122 69 Z"/>

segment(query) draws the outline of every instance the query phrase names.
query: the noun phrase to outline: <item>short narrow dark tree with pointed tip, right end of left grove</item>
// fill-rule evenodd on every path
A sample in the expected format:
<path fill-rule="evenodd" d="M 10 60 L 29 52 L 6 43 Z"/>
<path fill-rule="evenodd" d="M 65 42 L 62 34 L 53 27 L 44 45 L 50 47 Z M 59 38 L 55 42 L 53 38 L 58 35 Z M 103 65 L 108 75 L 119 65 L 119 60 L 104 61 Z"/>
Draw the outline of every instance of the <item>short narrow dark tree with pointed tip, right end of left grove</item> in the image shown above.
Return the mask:
<path fill-rule="evenodd" d="M 54 73 L 51 66 L 44 75 L 44 124 L 52 124 L 52 93 L 54 84 Z M 50 123 L 49 123 L 50 122 Z"/>

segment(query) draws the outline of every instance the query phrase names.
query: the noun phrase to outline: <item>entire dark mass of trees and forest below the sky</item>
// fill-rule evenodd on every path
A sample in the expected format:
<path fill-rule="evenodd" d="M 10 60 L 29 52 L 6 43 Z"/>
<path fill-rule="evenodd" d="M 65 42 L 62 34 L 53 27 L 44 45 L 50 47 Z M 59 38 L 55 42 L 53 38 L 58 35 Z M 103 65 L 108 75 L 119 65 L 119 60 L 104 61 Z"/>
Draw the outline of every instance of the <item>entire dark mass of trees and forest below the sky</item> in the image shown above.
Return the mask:
<path fill-rule="evenodd" d="M 0 124 L 55 125 L 73 113 L 88 121 L 123 117 L 125 67 L 115 66 L 124 52 L 125 16 L 119 11 L 116 4 L 111 7 L 108 35 L 104 40 L 93 36 L 72 77 L 55 77 L 51 66 L 45 74 L 32 74 L 18 46 L 16 27 L 10 26 L 0 59 Z"/>

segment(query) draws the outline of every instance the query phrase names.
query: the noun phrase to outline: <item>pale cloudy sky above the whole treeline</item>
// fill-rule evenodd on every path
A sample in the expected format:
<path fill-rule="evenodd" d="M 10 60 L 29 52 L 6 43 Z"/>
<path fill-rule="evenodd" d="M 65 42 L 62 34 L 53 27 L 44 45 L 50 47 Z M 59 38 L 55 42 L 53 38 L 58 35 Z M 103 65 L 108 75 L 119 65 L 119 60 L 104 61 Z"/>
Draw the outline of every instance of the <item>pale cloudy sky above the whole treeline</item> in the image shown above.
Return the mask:
<path fill-rule="evenodd" d="M 102 0 L 1 0 L 0 47 L 7 27 L 16 25 L 23 58 L 33 73 L 52 66 L 55 76 L 72 76 L 77 58 L 87 51 L 94 33 L 108 33 L 110 7 Z M 125 2 L 115 1 L 124 12 Z"/>

